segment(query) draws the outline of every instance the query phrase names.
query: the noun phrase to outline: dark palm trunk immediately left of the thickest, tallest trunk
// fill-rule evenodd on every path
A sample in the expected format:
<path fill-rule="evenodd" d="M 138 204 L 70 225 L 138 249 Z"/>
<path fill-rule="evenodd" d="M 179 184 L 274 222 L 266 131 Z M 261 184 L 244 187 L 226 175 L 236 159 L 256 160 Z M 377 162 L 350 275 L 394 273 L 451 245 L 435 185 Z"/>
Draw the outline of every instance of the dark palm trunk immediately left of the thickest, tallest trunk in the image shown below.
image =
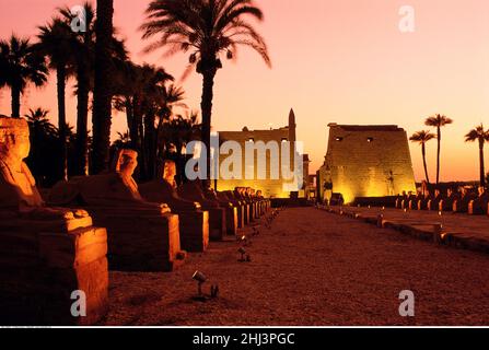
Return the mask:
<path fill-rule="evenodd" d="M 89 175 L 89 93 L 90 75 L 84 61 L 78 63 L 77 175 Z"/>

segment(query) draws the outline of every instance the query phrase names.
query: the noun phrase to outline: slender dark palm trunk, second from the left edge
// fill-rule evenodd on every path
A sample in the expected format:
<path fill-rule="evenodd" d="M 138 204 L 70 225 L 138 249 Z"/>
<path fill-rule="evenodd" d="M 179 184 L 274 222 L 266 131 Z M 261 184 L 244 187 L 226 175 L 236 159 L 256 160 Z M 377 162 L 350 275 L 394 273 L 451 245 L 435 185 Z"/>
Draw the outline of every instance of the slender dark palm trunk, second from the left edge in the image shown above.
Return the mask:
<path fill-rule="evenodd" d="M 61 178 L 68 179 L 68 148 L 67 148 L 67 112 L 66 112 L 66 83 L 67 72 L 65 65 L 59 65 L 56 70 L 58 94 L 58 130 L 61 144 Z"/>

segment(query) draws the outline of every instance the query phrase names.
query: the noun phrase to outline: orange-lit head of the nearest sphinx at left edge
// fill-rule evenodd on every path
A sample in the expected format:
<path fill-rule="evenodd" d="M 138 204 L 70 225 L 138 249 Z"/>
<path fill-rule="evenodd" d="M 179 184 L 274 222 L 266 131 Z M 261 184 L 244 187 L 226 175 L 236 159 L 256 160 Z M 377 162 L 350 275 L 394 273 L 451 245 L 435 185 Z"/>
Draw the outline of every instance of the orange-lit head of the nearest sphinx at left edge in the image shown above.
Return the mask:
<path fill-rule="evenodd" d="M 0 116 L 0 154 L 7 161 L 22 162 L 31 151 L 28 125 L 24 119 Z"/>

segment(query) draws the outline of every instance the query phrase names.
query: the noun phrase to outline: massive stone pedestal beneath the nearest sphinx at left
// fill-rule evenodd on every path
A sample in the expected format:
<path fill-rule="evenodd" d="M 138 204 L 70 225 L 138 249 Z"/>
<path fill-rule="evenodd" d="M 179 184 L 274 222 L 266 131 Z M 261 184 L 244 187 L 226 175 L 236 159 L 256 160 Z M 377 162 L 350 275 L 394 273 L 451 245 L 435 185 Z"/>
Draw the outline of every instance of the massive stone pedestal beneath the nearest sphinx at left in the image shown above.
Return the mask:
<path fill-rule="evenodd" d="M 90 218 L 0 221 L 0 324 L 93 325 L 108 310 L 107 234 Z M 86 316 L 72 315 L 86 296 Z"/>

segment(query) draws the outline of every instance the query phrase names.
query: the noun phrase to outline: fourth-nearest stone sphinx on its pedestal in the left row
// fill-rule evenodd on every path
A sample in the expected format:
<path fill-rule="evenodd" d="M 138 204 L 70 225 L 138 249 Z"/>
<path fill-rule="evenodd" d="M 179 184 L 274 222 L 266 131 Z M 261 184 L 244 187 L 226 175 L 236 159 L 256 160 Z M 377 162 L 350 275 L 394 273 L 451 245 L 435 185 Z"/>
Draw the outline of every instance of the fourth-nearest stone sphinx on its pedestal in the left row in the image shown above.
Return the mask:
<path fill-rule="evenodd" d="M 209 211 L 209 237 L 221 241 L 226 232 L 225 209 L 219 202 L 207 199 L 198 179 L 187 182 L 178 188 L 178 196 L 186 200 L 199 202 L 202 209 Z"/>

